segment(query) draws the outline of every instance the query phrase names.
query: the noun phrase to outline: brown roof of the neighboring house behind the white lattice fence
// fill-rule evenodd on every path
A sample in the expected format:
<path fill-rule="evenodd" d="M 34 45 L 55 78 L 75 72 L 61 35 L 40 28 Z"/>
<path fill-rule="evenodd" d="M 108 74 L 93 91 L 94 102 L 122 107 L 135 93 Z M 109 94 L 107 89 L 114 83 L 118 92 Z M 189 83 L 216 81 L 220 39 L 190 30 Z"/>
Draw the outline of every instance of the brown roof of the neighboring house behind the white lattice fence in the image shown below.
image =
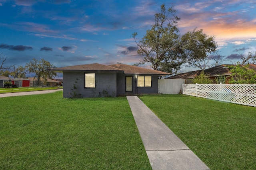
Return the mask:
<path fill-rule="evenodd" d="M 185 72 L 181 74 L 177 74 L 175 76 L 168 77 L 166 79 L 186 79 L 186 78 L 194 78 L 196 76 L 199 76 L 202 71 L 207 74 L 208 77 L 211 76 L 228 76 L 231 75 L 232 73 L 229 72 L 228 66 L 232 66 L 232 64 L 222 64 L 219 66 L 215 66 L 212 68 L 208 68 L 205 70 L 196 70 L 196 71 L 190 71 L 190 72 Z"/>

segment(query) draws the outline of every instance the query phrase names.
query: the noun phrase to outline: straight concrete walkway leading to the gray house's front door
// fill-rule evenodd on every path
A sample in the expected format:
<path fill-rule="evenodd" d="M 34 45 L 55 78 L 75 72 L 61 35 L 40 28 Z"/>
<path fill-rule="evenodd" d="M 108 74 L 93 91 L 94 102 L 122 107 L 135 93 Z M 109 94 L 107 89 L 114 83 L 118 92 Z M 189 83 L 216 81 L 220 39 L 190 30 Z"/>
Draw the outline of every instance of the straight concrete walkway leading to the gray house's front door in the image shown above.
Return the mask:
<path fill-rule="evenodd" d="M 153 170 L 209 170 L 137 96 L 127 96 Z"/>

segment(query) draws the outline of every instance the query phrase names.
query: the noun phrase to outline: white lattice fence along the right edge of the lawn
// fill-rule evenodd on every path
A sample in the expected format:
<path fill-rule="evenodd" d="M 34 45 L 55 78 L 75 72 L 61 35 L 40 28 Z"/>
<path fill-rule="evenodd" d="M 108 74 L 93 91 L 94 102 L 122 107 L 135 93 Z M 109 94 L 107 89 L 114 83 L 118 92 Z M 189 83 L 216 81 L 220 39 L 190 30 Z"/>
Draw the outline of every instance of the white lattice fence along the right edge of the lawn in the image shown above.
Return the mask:
<path fill-rule="evenodd" d="M 182 84 L 182 94 L 256 107 L 256 84 Z"/>

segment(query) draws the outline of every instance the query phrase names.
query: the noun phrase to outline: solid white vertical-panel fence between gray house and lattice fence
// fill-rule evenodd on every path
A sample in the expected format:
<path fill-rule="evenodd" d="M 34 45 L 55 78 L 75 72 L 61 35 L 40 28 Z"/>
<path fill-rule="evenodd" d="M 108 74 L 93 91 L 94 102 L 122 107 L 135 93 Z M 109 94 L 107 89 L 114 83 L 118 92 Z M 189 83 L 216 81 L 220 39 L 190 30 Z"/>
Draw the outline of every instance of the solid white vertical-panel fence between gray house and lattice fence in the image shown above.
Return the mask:
<path fill-rule="evenodd" d="M 185 83 L 185 80 L 159 79 L 158 94 L 179 94 L 182 87 L 182 83 Z"/>

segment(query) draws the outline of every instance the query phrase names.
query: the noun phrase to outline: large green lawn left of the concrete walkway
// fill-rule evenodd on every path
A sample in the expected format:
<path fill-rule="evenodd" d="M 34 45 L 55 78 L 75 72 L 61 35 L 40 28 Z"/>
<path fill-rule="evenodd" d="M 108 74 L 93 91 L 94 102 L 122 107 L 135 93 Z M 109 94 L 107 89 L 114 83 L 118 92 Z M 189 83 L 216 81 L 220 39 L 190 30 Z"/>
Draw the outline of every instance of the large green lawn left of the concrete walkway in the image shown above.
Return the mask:
<path fill-rule="evenodd" d="M 125 97 L 0 98 L 0 169 L 151 169 Z"/>

